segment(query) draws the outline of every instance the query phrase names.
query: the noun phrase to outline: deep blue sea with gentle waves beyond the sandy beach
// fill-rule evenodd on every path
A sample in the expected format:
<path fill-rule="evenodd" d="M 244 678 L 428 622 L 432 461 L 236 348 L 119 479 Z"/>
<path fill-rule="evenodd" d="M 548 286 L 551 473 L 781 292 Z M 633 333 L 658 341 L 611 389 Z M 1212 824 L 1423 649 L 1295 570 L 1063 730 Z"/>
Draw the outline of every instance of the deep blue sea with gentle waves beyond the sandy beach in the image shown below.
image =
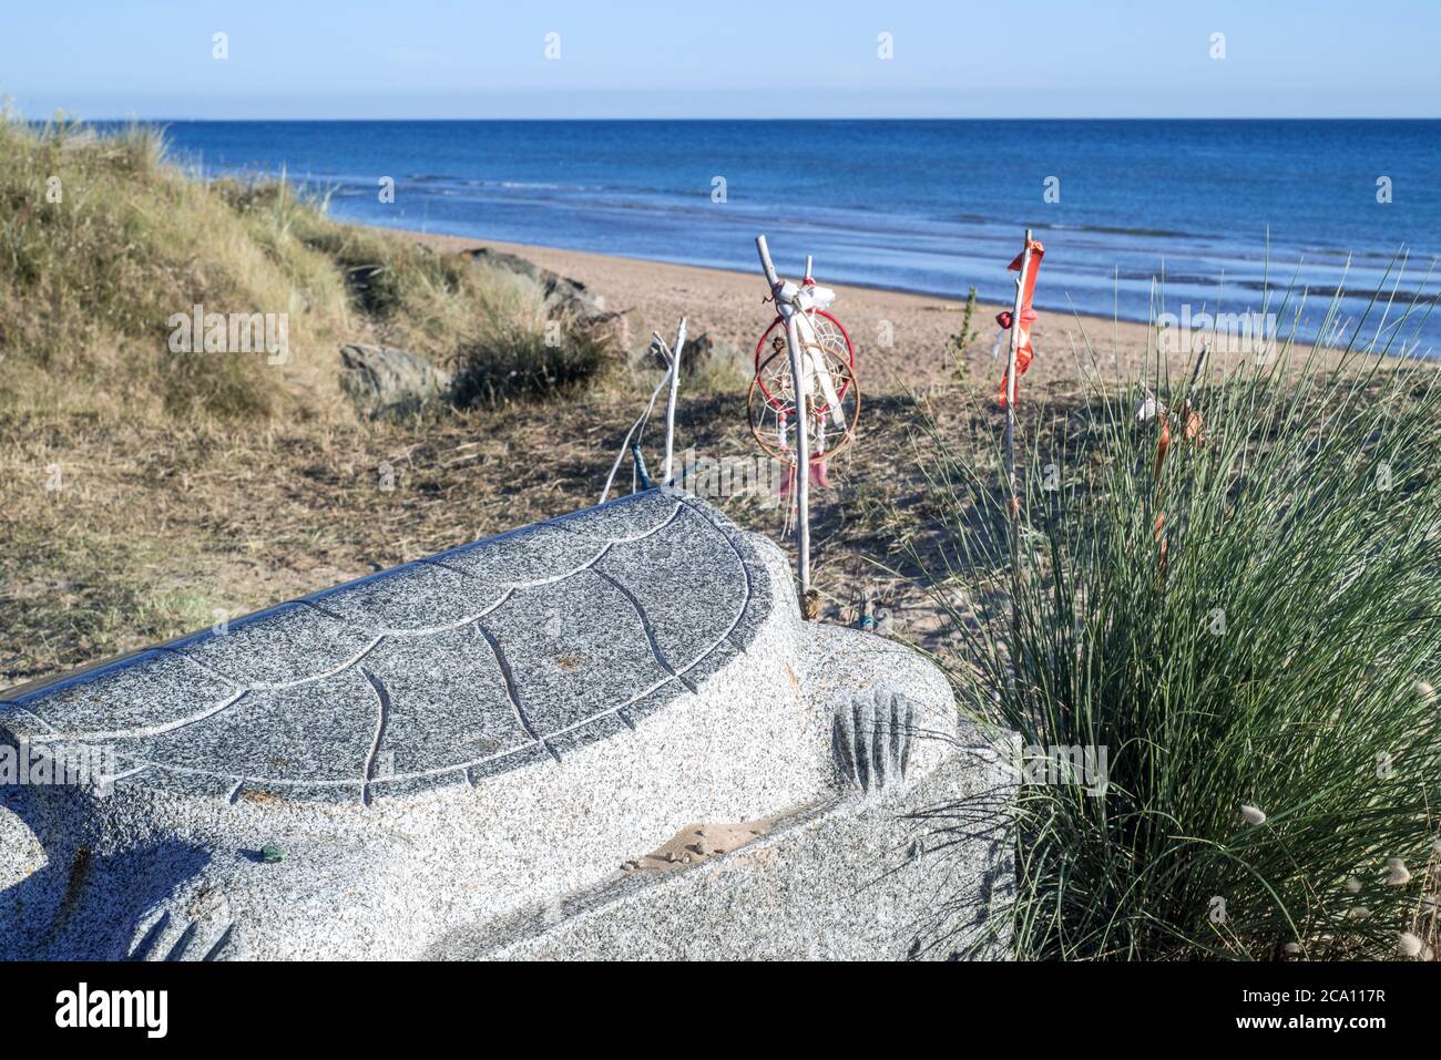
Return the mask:
<path fill-rule="evenodd" d="M 1147 320 L 1343 287 L 1365 325 L 1427 356 L 1441 314 L 1441 121 L 177 121 L 206 174 L 277 174 L 336 217 L 476 239 L 1006 301 L 1032 228 L 1042 310 Z M 379 181 L 395 180 L 382 203 Z M 1382 180 L 1385 179 L 1385 180 Z M 723 183 L 722 183 L 723 181 Z M 1378 202 L 1379 183 L 1391 202 Z M 1049 187 L 1055 202 L 1048 202 Z M 723 189 L 723 196 L 720 194 Z M 1405 252 L 1404 271 L 1388 266 Z M 1347 269 L 1349 262 L 1349 269 Z M 1163 287 L 1159 287 L 1161 285 Z M 1405 305 L 1421 298 L 1401 327 Z M 1295 308 L 1295 300 L 1291 308 Z M 1272 304 L 1272 308 L 1275 305 Z M 1287 317 L 1287 324 L 1290 317 Z"/>

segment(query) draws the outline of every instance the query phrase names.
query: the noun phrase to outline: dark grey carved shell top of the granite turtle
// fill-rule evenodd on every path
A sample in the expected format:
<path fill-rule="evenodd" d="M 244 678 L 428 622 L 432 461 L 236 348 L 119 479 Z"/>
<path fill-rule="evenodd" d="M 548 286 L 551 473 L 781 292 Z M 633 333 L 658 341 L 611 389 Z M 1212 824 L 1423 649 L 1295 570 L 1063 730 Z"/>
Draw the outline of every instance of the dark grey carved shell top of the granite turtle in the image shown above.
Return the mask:
<path fill-rule="evenodd" d="M 625 739 L 746 647 L 768 586 L 746 534 L 653 490 L 33 688 L 0 733 L 231 801 L 476 785 Z"/>

